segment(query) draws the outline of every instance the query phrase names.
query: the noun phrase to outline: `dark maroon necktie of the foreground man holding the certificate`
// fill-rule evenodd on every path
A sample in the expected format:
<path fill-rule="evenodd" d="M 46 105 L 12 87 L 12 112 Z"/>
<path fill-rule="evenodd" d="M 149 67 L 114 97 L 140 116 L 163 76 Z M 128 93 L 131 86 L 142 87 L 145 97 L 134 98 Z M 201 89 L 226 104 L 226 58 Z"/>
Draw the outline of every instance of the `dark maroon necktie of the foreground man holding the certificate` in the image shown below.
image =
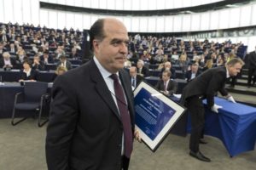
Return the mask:
<path fill-rule="evenodd" d="M 125 156 L 130 158 L 132 151 L 132 133 L 131 133 L 131 118 L 128 113 L 127 104 L 125 101 L 125 94 L 123 88 L 119 83 L 119 78 L 116 74 L 110 76 L 113 79 L 113 88 L 115 93 L 115 98 L 117 105 L 119 107 L 119 113 L 121 116 L 121 121 L 124 127 L 125 134 Z"/>

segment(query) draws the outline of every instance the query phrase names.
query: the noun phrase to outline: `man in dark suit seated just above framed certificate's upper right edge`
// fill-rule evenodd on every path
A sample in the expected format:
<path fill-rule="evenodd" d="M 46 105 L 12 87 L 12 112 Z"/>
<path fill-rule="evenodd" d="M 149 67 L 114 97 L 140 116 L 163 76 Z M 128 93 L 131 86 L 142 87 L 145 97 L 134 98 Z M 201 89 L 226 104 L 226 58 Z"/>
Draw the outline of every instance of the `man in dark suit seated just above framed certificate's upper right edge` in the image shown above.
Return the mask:
<path fill-rule="evenodd" d="M 170 79 L 171 75 L 171 71 L 163 71 L 161 80 L 155 86 L 160 93 L 168 96 L 177 92 L 177 82 Z"/>

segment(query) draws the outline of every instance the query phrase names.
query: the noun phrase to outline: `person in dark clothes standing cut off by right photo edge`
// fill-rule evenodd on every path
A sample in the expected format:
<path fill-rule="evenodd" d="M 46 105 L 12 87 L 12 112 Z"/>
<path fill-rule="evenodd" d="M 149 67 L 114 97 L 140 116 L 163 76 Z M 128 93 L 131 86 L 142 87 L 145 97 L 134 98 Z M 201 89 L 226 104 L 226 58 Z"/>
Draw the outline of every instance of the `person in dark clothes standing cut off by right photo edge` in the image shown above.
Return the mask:
<path fill-rule="evenodd" d="M 247 79 L 247 87 L 251 87 L 251 82 L 253 79 L 253 85 L 256 82 L 256 47 L 255 51 L 249 54 L 248 58 L 248 79 Z"/>

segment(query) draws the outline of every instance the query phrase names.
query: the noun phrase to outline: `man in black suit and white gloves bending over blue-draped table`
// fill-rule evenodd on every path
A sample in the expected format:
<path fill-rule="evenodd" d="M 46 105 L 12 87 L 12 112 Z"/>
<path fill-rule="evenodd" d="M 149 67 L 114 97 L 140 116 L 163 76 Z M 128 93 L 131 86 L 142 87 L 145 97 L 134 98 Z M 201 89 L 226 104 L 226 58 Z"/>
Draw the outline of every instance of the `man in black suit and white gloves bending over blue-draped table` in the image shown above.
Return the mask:
<path fill-rule="evenodd" d="M 211 161 L 199 150 L 201 133 L 204 127 L 203 99 L 207 99 L 207 106 L 218 113 L 219 105 L 214 104 L 214 95 L 219 91 L 233 103 L 235 99 L 224 89 L 228 77 L 236 76 L 241 71 L 244 62 L 241 59 L 231 59 L 225 66 L 209 69 L 188 83 L 183 88 L 181 104 L 185 105 L 191 116 L 191 136 L 189 141 L 189 155 L 201 161 Z"/>

